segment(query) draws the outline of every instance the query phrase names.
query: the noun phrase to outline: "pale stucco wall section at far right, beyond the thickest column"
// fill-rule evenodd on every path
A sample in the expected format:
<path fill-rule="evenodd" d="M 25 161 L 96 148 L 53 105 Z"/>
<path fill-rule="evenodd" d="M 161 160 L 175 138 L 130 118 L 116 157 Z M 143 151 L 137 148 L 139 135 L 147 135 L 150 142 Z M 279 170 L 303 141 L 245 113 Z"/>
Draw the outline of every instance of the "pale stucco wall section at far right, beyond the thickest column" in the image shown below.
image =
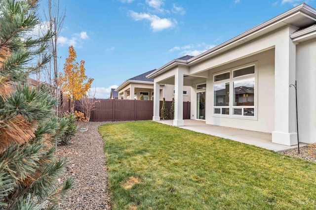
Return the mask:
<path fill-rule="evenodd" d="M 316 141 L 316 39 L 296 45 L 297 106 L 300 142 Z M 291 88 L 294 90 L 294 88 Z"/>

